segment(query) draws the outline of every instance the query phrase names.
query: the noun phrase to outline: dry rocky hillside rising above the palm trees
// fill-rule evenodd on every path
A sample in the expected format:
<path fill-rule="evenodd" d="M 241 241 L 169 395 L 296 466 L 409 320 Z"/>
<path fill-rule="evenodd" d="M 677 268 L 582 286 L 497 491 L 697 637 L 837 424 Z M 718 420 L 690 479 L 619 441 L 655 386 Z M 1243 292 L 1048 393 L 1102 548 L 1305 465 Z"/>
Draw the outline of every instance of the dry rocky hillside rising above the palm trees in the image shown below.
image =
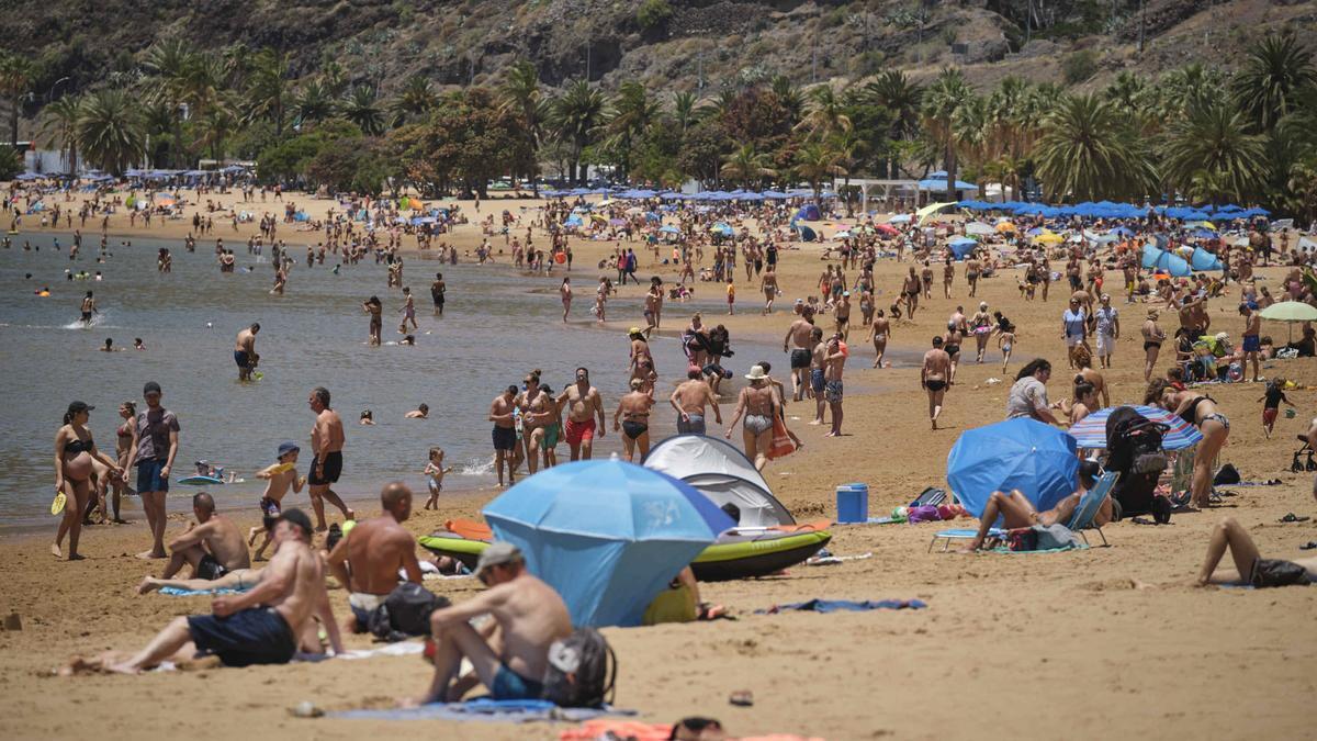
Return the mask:
<path fill-rule="evenodd" d="M 136 55 L 180 36 L 199 47 L 274 46 L 292 73 L 337 59 L 383 94 L 415 74 L 489 83 L 529 58 L 557 86 L 640 79 L 716 91 L 784 74 L 797 83 L 859 79 L 886 67 L 915 78 L 960 65 L 1100 84 L 1131 69 L 1231 66 L 1268 30 L 1317 30 L 1317 3 L 1285 0 L 8 0 L 0 46 L 43 61 L 43 99 L 136 75 Z M 1035 20 L 1027 24 L 1026 13 Z M 1142 29 L 1142 30 L 1141 30 Z M 1144 47 L 1139 51 L 1139 38 Z M 68 76 L 66 82 L 61 78 Z M 58 86 L 55 83 L 59 82 Z"/>

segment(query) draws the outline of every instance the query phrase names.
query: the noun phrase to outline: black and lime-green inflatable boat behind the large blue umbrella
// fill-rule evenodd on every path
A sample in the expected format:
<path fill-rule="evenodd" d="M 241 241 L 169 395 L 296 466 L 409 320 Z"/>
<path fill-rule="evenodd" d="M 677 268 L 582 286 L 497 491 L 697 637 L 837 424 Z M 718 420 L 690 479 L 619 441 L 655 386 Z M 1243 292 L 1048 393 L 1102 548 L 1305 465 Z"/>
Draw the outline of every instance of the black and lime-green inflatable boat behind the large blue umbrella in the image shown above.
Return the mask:
<path fill-rule="evenodd" d="M 701 581 L 730 581 L 768 576 L 795 566 L 817 554 L 832 539 L 827 530 L 784 531 L 764 527 L 724 533 L 690 564 Z M 470 570 L 489 541 L 465 538 L 457 533 L 436 531 L 419 539 L 435 555 L 460 560 Z"/>

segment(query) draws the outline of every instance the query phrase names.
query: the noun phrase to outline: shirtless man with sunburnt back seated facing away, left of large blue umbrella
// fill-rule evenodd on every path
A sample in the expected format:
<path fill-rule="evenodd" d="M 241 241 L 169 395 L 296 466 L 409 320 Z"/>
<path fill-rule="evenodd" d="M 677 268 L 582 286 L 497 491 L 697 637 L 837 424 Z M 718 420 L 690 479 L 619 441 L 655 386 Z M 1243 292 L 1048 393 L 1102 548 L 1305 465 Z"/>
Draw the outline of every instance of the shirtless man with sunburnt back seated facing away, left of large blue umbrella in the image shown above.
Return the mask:
<path fill-rule="evenodd" d="M 329 574 L 348 588 L 352 609 L 352 616 L 344 620 L 344 630 L 366 633 L 370 629 L 370 616 L 398 585 L 399 570 L 407 574 L 408 581 L 420 584 L 416 541 L 402 526 L 411 517 L 411 502 L 412 493 L 406 484 L 386 484 L 379 492 L 383 514 L 358 522 L 329 551 L 325 559 Z"/>

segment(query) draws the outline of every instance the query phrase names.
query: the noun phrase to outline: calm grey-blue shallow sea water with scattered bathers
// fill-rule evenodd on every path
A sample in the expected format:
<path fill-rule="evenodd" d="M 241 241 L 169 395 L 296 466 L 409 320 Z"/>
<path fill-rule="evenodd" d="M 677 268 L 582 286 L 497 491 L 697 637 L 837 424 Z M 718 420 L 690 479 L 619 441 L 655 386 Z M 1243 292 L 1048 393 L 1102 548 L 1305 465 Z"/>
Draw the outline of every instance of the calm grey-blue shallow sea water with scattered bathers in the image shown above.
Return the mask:
<path fill-rule="evenodd" d="M 221 508 L 253 510 L 263 483 L 252 473 L 274 463 L 282 440 L 298 442 L 303 448 L 299 467 L 309 464 L 313 414 L 307 397 L 317 385 L 332 392 L 332 405 L 346 423 L 344 476 L 335 490 L 349 500 L 373 498 L 382 483 L 394 479 L 423 493 L 420 471 L 431 446 L 441 446 L 446 463 L 456 467 L 445 489 L 493 484 L 489 405 L 532 368 L 541 368 L 544 381 L 561 390 L 577 365 L 589 367 L 603 393 L 610 427 L 618 396 L 626 390 L 626 338 L 595 330 L 589 302 L 581 298 L 573 305 L 572 323 L 564 324 L 558 277 L 520 278 L 506 265 L 453 266 L 408 258 L 404 283 L 417 298 L 416 347 L 373 348 L 366 344 L 367 318 L 360 306 L 370 295 L 385 303 L 385 340 L 402 336 L 396 334 L 402 294 L 385 287 L 385 266 L 373 258 L 333 276 L 328 258 L 307 269 L 306 248 L 294 243 L 292 254 L 303 260 L 292 269 L 287 294 L 273 297 L 269 257 L 245 254 L 242 244 L 230 245 L 240 252 L 238 272 L 221 274 L 211 241 L 188 253 L 179 241 L 134 239 L 130 248 L 115 248 L 122 240 L 111 239 L 112 257 L 97 264 L 96 240 L 88 239 L 91 249 L 84 247 L 71 264 L 71 237 L 58 235 L 66 247 L 55 252 L 54 236 L 20 235 L 14 247 L 0 251 L 0 341 L 5 348 L 0 372 L 7 381 L 0 396 L 7 431 L 0 439 L 0 529 L 54 526 L 47 509 L 54 494 L 53 440 L 68 402 L 96 406 L 90 427 L 97 446 L 112 455 L 115 427 L 121 422 L 119 403 L 133 400 L 142 407 L 146 381 L 163 386 L 163 403 L 179 418 L 174 477 L 191 473 L 196 460 L 217 461 L 246 481 L 207 490 Z M 24 241 L 40 245 L 40 252 L 25 252 Z M 174 254 L 170 274 L 155 270 L 161 247 Z M 68 268 L 101 270 L 104 281 L 67 281 Z M 428 286 L 436 270 L 448 283 L 444 319 L 431 316 Z M 573 273 L 578 297 L 593 297 L 591 278 L 597 277 Z M 47 285 L 50 297 L 34 295 Z M 95 291 L 100 309 L 91 328 L 78 320 L 87 290 Z M 665 327 L 680 327 L 699 307 L 669 310 Z M 610 314 L 639 316 L 640 301 L 611 301 Z M 263 378 L 240 384 L 233 340 L 252 322 L 261 323 L 257 352 Z M 105 338 L 125 352 L 99 352 Z M 133 351 L 134 338 L 142 338 L 148 349 Z M 653 345 L 661 374 L 661 409 L 652 434 L 657 440 L 673 431 L 665 389 L 676 382 L 685 359 L 672 338 L 656 336 Z M 761 353 L 777 357 L 766 355 L 772 349 L 766 345 L 734 345 L 740 352 L 727 365 L 738 373 Z M 738 382 L 730 382 L 724 393 L 736 388 Z M 429 405 L 428 421 L 403 419 L 421 402 Z M 363 409 L 374 411 L 375 426 L 357 425 Z M 620 439 L 610 429 L 597 442 L 595 456 L 618 450 Z M 566 443 L 560 443 L 558 456 L 568 460 Z M 184 506 L 183 498 L 196 490 L 173 485 L 170 508 Z M 287 501 L 306 504 L 306 492 Z M 130 514 L 140 512 L 130 508 Z"/>

